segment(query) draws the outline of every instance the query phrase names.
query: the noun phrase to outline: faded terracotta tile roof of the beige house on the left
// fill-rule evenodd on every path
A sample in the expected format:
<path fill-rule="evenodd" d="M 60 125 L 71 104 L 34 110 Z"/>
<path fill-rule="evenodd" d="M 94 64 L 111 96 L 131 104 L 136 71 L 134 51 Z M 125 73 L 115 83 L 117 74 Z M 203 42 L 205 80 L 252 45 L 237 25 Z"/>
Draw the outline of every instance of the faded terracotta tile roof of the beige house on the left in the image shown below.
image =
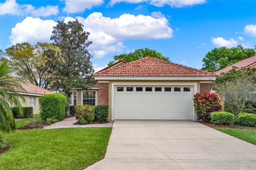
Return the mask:
<path fill-rule="evenodd" d="M 12 77 L 15 77 L 11 75 Z M 23 79 L 22 79 L 23 80 Z M 50 94 L 53 93 L 49 90 L 43 89 L 42 87 L 38 87 L 37 85 L 34 85 L 32 83 L 29 83 L 28 81 L 23 80 L 24 83 L 22 83 L 22 87 L 26 90 L 25 93 L 33 93 L 33 94 L 38 94 L 38 95 L 45 95 L 45 94 Z M 24 92 L 17 90 L 18 92 Z"/>

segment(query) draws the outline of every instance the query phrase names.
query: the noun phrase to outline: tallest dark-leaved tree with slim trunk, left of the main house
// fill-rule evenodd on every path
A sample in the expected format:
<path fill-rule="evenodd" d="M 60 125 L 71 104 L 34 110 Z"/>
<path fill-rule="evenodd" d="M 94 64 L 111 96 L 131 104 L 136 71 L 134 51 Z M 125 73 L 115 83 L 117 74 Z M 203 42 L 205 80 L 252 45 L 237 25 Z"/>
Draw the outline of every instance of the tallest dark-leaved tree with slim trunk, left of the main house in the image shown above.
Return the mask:
<path fill-rule="evenodd" d="M 89 89 L 95 83 L 90 61 L 92 55 L 86 49 L 92 42 L 87 41 L 90 33 L 84 31 L 83 25 L 78 20 L 67 24 L 58 21 L 53 29 L 50 40 L 59 47 L 60 53 L 47 50 L 45 54 L 49 57 L 49 70 L 56 77 L 52 87 L 66 95 L 68 100 L 66 114 L 70 115 L 69 101 L 72 90 Z"/>

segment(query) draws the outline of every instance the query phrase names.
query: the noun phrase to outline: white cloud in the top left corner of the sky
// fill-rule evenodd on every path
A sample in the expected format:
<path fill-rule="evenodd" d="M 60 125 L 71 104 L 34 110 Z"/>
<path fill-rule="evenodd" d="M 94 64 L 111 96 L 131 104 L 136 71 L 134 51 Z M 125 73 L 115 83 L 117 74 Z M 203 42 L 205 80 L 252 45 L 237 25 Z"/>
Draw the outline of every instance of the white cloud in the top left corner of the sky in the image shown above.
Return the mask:
<path fill-rule="evenodd" d="M 0 14 L 10 14 L 10 15 L 31 15 L 34 17 L 40 16 L 50 16 L 58 14 L 58 5 L 51 6 L 48 5 L 46 7 L 41 6 L 39 8 L 35 8 L 30 4 L 20 5 L 16 2 L 16 0 L 6 0 L 6 2 L 0 4 Z"/>

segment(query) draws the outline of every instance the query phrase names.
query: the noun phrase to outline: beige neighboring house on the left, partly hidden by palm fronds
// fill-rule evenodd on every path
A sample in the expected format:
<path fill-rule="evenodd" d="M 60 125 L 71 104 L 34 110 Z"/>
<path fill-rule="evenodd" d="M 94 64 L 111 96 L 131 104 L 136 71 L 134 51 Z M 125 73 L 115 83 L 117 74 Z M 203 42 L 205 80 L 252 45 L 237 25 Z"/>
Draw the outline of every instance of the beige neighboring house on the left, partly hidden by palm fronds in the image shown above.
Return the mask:
<path fill-rule="evenodd" d="M 28 81 L 23 81 L 24 83 L 22 83 L 22 87 L 26 90 L 26 92 L 18 91 L 20 94 L 24 96 L 26 100 L 25 103 L 21 102 L 22 107 L 31 106 L 33 107 L 33 114 L 39 114 L 39 97 L 45 94 L 50 94 L 52 92 L 41 87 L 38 87 L 37 85 L 34 85 L 32 83 L 29 83 Z"/>

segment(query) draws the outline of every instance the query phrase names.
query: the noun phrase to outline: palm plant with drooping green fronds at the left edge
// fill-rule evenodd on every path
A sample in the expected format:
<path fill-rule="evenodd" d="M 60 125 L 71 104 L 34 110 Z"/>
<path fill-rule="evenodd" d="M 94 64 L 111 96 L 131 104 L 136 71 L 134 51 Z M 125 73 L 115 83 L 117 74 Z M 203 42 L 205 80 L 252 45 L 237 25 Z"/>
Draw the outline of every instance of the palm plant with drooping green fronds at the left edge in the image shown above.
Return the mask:
<path fill-rule="evenodd" d="M 17 91 L 25 92 L 22 88 L 24 81 L 11 76 L 13 72 L 14 69 L 6 62 L 0 62 L 0 131 L 2 132 L 11 132 L 16 129 L 10 106 L 18 107 L 23 114 L 20 100 L 24 102 L 25 99 Z"/>

